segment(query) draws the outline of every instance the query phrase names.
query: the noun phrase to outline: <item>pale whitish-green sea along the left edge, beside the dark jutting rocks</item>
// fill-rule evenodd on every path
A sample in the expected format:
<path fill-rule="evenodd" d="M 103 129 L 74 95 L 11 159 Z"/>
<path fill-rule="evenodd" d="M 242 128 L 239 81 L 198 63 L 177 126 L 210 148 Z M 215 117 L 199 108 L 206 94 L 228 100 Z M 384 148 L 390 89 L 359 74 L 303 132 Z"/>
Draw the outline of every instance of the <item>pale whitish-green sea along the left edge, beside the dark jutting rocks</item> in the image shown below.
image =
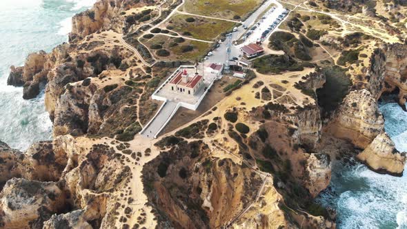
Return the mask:
<path fill-rule="evenodd" d="M 7 86 L 10 66 L 21 66 L 30 52 L 49 52 L 68 40 L 71 17 L 96 0 L 0 0 L 0 141 L 26 150 L 52 137 L 43 92 L 23 100 L 23 88 Z"/>

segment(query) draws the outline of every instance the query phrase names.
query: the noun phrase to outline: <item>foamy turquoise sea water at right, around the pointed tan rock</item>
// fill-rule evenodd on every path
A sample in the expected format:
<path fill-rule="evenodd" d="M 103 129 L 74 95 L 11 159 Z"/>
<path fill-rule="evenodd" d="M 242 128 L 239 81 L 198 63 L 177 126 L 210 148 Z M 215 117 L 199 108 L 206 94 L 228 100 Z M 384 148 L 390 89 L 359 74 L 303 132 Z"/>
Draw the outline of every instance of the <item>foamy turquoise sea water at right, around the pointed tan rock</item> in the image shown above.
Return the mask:
<path fill-rule="evenodd" d="M 407 152 L 407 112 L 397 103 L 379 108 L 397 150 Z M 338 228 L 407 228 L 406 169 L 403 177 L 392 177 L 356 161 L 336 163 L 330 186 L 317 201 L 337 210 Z"/>

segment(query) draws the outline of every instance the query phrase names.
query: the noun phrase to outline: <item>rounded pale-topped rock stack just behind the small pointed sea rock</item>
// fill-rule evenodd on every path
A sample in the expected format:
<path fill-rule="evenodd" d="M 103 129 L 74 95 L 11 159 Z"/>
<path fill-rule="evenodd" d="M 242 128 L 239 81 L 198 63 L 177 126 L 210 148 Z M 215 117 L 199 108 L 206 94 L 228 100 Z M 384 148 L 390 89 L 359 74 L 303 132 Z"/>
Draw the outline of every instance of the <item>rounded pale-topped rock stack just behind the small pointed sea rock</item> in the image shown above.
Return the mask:
<path fill-rule="evenodd" d="M 366 148 L 384 128 L 383 115 L 375 97 L 366 89 L 350 92 L 335 111 L 327 130 L 335 137 L 348 139 Z"/>

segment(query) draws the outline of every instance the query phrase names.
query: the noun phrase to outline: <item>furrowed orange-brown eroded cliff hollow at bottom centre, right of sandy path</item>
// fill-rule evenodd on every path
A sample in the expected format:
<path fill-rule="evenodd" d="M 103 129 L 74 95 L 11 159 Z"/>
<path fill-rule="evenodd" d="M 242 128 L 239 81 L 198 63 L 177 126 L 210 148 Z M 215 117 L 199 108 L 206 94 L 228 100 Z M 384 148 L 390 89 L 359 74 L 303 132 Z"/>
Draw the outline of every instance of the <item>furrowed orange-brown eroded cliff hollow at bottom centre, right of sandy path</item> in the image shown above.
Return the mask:
<path fill-rule="evenodd" d="M 211 159 L 208 150 L 200 141 L 181 142 L 143 168 L 159 226 L 217 228 L 255 199 L 259 175 L 230 159 Z"/>

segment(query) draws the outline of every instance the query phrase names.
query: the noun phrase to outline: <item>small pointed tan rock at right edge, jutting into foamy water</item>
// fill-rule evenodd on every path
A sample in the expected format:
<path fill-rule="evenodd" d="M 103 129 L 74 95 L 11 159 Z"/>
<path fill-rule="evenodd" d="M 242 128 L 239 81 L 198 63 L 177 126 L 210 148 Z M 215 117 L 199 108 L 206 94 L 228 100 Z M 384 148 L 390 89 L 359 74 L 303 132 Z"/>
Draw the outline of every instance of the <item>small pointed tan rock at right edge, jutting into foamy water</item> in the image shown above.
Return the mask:
<path fill-rule="evenodd" d="M 406 164 L 406 152 L 396 150 L 395 143 L 386 132 L 381 132 L 363 152 L 357 155 L 357 159 L 376 172 L 401 177 Z"/>

